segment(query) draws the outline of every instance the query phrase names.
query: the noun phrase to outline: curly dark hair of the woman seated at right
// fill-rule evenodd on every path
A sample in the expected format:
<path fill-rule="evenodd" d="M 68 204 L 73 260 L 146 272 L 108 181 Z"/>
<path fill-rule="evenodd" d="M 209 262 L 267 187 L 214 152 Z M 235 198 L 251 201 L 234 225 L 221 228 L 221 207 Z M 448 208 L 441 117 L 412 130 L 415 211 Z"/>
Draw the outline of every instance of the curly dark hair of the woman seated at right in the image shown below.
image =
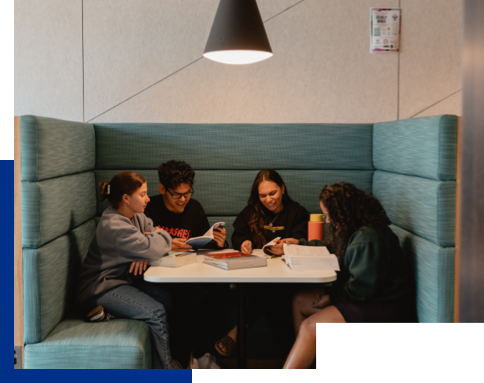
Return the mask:
<path fill-rule="evenodd" d="M 331 220 L 329 246 L 341 257 L 356 230 L 363 226 L 384 228 L 391 223 L 377 198 L 348 182 L 326 185 L 319 200 Z"/>

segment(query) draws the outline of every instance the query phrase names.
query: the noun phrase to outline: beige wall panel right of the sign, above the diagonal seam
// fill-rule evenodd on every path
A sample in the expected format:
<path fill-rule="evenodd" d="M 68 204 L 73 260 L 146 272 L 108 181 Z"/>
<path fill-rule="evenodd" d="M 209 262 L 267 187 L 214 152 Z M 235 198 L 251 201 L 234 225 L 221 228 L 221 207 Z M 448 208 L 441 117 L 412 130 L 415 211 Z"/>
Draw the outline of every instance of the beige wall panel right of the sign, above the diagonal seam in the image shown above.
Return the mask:
<path fill-rule="evenodd" d="M 401 6 L 399 114 L 405 119 L 462 89 L 463 1 L 401 0 Z"/>

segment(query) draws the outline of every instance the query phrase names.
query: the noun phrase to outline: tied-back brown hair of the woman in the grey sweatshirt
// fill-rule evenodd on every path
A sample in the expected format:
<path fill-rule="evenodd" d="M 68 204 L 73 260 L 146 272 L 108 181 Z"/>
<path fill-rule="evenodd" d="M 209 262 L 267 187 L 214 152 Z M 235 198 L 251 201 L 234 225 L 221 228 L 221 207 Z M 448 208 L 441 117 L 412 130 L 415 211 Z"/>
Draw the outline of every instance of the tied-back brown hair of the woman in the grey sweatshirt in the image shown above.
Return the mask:
<path fill-rule="evenodd" d="M 124 171 L 116 174 L 109 182 L 99 184 L 99 201 L 107 199 L 114 209 L 119 208 L 123 195 L 131 195 L 146 182 L 139 173 Z"/>

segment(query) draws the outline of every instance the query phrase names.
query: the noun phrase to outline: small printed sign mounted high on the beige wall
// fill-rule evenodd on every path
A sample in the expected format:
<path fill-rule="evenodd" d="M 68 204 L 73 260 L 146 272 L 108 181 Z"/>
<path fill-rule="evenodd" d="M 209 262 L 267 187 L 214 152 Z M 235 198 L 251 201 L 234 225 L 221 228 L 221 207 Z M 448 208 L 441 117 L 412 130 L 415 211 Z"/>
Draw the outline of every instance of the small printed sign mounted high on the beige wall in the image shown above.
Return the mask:
<path fill-rule="evenodd" d="M 400 52 L 401 8 L 370 9 L 370 52 Z"/>

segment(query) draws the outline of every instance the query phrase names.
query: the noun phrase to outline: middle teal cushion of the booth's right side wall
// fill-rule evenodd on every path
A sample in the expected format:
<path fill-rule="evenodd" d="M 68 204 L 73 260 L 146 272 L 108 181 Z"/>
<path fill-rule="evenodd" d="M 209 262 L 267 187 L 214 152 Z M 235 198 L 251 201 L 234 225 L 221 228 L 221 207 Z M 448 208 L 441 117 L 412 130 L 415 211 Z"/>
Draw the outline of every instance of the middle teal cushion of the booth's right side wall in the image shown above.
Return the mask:
<path fill-rule="evenodd" d="M 455 181 L 376 171 L 373 193 L 395 225 L 440 247 L 455 246 Z"/>

